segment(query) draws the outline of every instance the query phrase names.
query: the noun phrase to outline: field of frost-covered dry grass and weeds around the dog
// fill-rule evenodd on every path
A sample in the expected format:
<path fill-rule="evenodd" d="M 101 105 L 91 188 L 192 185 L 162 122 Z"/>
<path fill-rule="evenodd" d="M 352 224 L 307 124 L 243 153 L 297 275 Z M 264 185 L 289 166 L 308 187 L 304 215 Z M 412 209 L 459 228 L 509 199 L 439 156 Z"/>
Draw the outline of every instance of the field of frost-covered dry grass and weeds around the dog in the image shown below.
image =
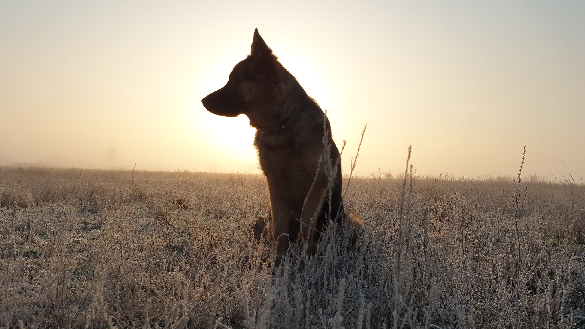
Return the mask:
<path fill-rule="evenodd" d="M 274 269 L 263 176 L 1 167 L 0 327 L 583 327 L 585 187 L 530 178 L 352 178 Z"/>

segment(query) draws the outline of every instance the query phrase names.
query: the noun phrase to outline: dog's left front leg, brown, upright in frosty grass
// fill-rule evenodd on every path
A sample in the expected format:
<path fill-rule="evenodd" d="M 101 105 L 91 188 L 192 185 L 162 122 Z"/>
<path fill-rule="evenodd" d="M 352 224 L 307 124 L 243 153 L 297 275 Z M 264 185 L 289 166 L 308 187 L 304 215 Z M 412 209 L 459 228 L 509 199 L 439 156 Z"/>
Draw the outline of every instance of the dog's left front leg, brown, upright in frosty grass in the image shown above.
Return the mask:
<path fill-rule="evenodd" d="M 276 246 L 275 265 L 278 266 L 288 248 L 288 225 L 291 220 L 291 208 L 282 198 L 270 193 L 270 211 L 272 213 L 272 246 L 273 248 Z"/>

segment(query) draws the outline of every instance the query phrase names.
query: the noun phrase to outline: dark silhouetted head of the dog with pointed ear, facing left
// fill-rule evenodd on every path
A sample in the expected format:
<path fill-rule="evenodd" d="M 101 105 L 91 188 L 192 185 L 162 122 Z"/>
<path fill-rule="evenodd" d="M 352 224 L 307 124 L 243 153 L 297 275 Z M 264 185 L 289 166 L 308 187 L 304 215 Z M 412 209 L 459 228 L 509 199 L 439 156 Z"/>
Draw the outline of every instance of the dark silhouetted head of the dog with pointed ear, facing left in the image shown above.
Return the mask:
<path fill-rule="evenodd" d="M 282 114 L 276 113 L 275 105 L 287 81 L 296 83 L 256 29 L 250 55 L 233 67 L 223 88 L 207 95 L 201 102 L 213 114 L 231 117 L 245 114 L 250 125 L 267 127 L 281 120 Z"/>

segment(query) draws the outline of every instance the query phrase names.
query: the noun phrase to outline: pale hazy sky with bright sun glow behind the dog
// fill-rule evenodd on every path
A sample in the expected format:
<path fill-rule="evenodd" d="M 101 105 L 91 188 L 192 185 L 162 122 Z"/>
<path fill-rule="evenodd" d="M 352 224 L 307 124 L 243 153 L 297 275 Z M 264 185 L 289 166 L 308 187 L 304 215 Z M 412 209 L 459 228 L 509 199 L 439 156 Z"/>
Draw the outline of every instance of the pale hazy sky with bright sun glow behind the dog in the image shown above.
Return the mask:
<path fill-rule="evenodd" d="M 0 1 L 1 165 L 257 172 L 201 105 L 254 28 L 345 168 L 367 123 L 358 173 L 585 177 L 583 1 Z"/>

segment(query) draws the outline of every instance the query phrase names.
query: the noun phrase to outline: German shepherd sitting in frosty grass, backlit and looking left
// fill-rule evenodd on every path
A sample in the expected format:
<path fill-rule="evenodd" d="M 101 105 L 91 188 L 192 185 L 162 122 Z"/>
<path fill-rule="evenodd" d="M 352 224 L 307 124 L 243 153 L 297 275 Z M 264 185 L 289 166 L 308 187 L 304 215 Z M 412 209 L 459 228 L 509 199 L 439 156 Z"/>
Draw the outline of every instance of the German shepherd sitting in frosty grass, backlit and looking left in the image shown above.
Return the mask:
<path fill-rule="evenodd" d="M 260 239 L 264 232 L 271 237 L 276 265 L 295 241 L 306 242 L 308 251 L 314 253 L 330 220 L 349 222 L 355 243 L 363 222 L 344 213 L 340 155 L 331 138 L 329 120 L 278 62 L 258 29 L 254 30 L 250 55 L 236 64 L 223 88 L 201 102 L 213 114 L 245 114 L 250 126 L 256 128 L 254 146 L 268 183 L 270 218 L 269 223 L 257 220 L 254 236 Z M 330 145 L 326 153 L 325 140 Z M 322 159 L 323 155 L 329 159 Z M 337 168 L 333 177 L 325 173 L 326 160 Z"/>

